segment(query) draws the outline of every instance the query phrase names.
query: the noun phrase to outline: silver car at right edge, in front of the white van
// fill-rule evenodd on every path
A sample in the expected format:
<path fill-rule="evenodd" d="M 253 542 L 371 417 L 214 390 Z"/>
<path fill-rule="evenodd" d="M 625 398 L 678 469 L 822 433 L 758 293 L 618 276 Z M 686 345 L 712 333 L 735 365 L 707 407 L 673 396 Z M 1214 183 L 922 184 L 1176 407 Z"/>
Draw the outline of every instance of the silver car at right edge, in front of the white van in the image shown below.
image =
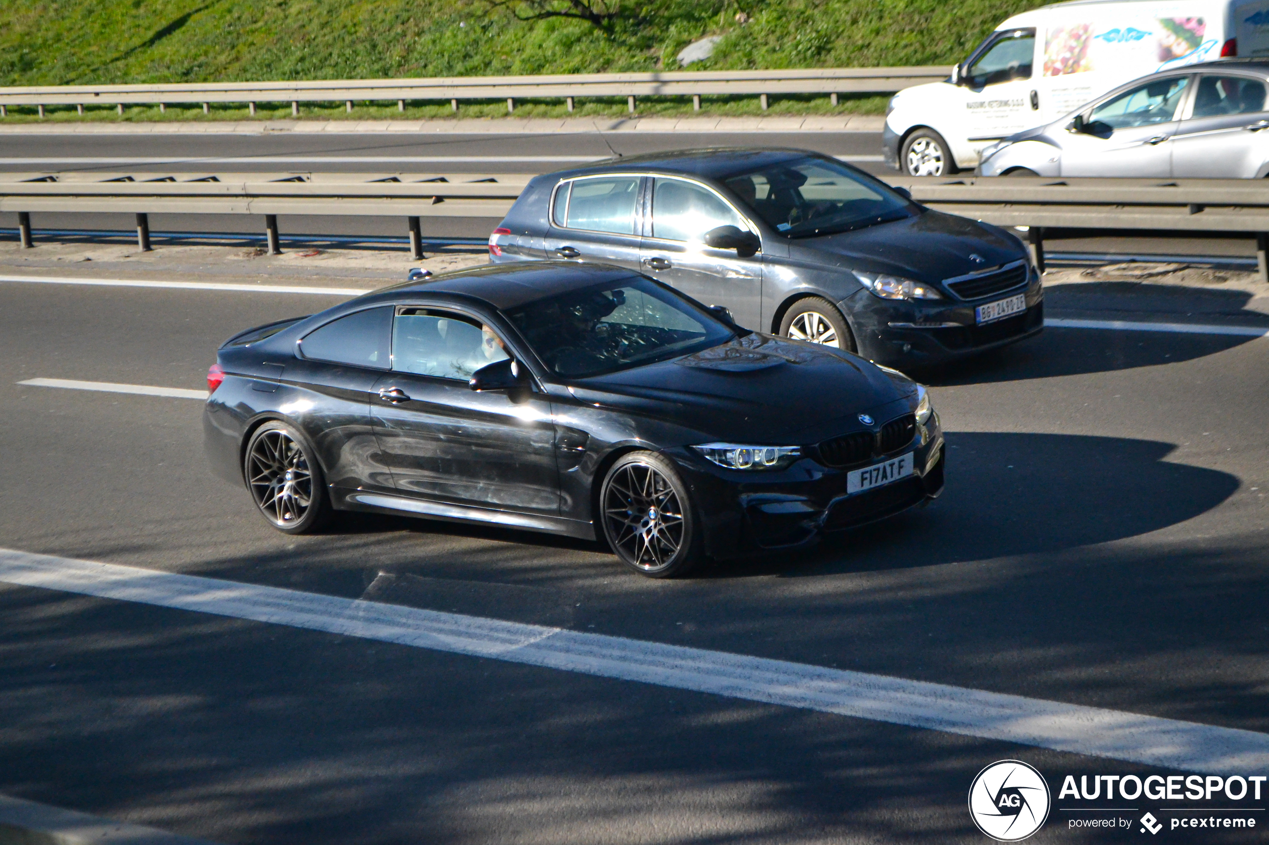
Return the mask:
<path fill-rule="evenodd" d="M 983 176 L 1261 179 L 1269 174 L 1269 62 L 1151 73 L 982 151 Z"/>

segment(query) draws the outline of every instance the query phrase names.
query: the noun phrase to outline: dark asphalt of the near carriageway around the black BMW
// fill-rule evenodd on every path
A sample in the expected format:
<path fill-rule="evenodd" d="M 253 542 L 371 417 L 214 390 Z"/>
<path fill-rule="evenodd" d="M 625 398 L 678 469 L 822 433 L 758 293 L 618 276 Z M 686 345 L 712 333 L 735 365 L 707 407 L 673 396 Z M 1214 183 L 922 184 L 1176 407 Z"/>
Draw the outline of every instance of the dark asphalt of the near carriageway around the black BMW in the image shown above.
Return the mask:
<path fill-rule="evenodd" d="M 1049 317 L 1204 310 L 1088 290 Z M 16 384 L 199 389 L 230 333 L 332 302 L 0 283 L 0 546 L 1269 732 L 1266 338 L 1049 328 L 926 374 L 943 498 L 669 583 L 492 528 L 283 536 L 199 402 Z M 1176 774 L 51 589 L 0 584 L 0 792 L 225 842 L 977 844 L 1000 759 L 1053 789 L 1033 841 L 1118 841 L 1068 827 L 1065 775 Z"/>

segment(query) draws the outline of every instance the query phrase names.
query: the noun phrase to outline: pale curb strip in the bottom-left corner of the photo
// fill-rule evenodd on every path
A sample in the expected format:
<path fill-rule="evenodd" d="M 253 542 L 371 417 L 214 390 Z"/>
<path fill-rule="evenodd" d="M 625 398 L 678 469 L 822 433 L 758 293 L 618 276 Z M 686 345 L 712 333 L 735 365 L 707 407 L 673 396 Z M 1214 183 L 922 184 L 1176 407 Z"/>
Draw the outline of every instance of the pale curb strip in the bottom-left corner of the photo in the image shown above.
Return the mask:
<path fill-rule="evenodd" d="M 0 796 L 0 845 L 214 845 L 155 827 Z"/>

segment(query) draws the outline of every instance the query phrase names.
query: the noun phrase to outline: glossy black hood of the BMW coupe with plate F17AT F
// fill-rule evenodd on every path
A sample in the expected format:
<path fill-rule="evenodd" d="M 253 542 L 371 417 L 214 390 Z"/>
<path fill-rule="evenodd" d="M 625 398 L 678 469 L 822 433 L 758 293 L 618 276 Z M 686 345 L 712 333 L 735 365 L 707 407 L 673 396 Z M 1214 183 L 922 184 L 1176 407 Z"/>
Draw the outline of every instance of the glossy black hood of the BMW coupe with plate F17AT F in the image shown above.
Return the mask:
<path fill-rule="evenodd" d="M 751 332 L 694 355 L 582 379 L 570 393 L 716 440 L 774 443 L 835 419 L 854 421 L 915 389 L 849 352 Z"/>

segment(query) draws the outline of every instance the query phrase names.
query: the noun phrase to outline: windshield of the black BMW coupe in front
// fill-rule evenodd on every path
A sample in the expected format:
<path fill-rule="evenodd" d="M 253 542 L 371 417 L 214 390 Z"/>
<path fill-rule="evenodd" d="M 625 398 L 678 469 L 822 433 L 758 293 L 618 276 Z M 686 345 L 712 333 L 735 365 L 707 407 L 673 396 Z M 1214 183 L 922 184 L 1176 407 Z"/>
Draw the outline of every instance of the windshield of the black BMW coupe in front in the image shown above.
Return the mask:
<path fill-rule="evenodd" d="M 735 332 L 647 279 L 623 279 L 506 312 L 538 357 L 562 376 L 612 372 L 690 355 Z"/>

